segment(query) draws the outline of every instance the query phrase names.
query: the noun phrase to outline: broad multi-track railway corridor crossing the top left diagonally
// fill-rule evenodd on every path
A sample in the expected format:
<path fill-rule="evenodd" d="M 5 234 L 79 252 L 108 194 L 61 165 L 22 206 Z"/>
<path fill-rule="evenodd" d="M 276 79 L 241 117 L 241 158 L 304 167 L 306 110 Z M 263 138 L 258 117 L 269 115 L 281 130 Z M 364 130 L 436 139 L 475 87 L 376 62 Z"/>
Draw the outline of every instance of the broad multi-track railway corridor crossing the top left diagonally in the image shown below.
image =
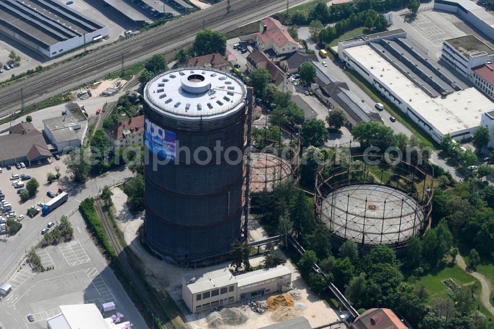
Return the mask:
<path fill-rule="evenodd" d="M 291 0 L 298 5 L 306 0 Z M 212 29 L 228 32 L 286 8 L 285 0 L 231 0 L 232 11 L 226 13 L 226 1 L 199 10 L 125 41 L 110 44 L 86 56 L 66 62 L 39 75 L 0 89 L 0 117 L 21 110 L 24 105 L 60 94 L 97 78 L 133 65 L 156 53 L 188 46 L 197 31 Z M 170 55 L 171 57 L 171 55 Z"/>

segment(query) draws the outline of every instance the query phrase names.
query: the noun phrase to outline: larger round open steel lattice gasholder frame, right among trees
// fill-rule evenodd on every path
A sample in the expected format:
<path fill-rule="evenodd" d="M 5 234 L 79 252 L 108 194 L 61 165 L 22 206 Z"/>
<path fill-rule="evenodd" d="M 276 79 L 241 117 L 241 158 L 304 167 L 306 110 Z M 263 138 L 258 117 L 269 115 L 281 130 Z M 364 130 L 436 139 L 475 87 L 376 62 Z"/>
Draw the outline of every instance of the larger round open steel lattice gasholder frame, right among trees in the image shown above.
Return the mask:
<path fill-rule="evenodd" d="M 367 250 L 399 249 L 430 226 L 433 186 L 426 166 L 383 155 L 345 156 L 317 174 L 316 215 L 336 245 L 352 240 Z"/>

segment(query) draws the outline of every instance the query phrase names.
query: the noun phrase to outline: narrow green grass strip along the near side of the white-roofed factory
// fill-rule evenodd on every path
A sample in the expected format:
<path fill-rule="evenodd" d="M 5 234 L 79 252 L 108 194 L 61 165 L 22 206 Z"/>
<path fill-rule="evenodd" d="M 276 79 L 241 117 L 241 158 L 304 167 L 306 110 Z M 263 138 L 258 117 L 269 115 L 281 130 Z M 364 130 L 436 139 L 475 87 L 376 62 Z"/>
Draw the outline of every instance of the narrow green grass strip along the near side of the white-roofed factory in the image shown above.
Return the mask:
<path fill-rule="evenodd" d="M 388 102 L 388 100 L 384 97 L 381 97 L 376 92 L 374 92 L 374 88 L 371 86 L 369 82 L 367 82 L 364 78 L 362 78 L 357 72 L 347 69 L 345 70 L 345 74 L 355 82 L 362 90 L 364 90 L 374 102 L 382 103 L 386 110 L 391 113 L 393 117 L 396 118 L 400 123 L 405 125 L 407 128 L 412 131 L 412 133 L 417 136 L 419 139 L 429 142 L 432 145 L 433 149 L 438 149 L 439 144 L 432 139 L 423 129 L 421 129 L 416 123 L 414 123 L 405 113 L 400 111 L 394 104 Z"/>

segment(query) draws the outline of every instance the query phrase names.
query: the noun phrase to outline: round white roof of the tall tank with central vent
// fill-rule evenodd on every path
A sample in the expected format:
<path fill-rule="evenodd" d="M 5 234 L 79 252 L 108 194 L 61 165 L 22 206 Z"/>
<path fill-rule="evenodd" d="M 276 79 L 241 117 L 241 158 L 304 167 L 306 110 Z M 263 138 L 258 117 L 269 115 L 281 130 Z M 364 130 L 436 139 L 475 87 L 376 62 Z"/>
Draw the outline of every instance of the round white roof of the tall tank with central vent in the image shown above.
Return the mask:
<path fill-rule="evenodd" d="M 144 98 L 165 114 L 180 118 L 221 117 L 238 111 L 247 93 L 240 80 L 201 67 L 165 72 L 146 84 Z"/>

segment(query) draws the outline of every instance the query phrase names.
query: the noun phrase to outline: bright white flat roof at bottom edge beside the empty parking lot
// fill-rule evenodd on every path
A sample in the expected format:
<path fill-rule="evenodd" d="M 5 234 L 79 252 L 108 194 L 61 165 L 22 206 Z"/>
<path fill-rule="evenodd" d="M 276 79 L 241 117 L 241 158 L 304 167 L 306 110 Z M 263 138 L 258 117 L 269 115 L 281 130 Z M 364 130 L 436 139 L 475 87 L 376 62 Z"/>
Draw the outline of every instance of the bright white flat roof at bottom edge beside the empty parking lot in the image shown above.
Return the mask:
<path fill-rule="evenodd" d="M 108 329 L 95 304 L 61 305 L 60 311 L 47 320 L 52 329 Z"/>

